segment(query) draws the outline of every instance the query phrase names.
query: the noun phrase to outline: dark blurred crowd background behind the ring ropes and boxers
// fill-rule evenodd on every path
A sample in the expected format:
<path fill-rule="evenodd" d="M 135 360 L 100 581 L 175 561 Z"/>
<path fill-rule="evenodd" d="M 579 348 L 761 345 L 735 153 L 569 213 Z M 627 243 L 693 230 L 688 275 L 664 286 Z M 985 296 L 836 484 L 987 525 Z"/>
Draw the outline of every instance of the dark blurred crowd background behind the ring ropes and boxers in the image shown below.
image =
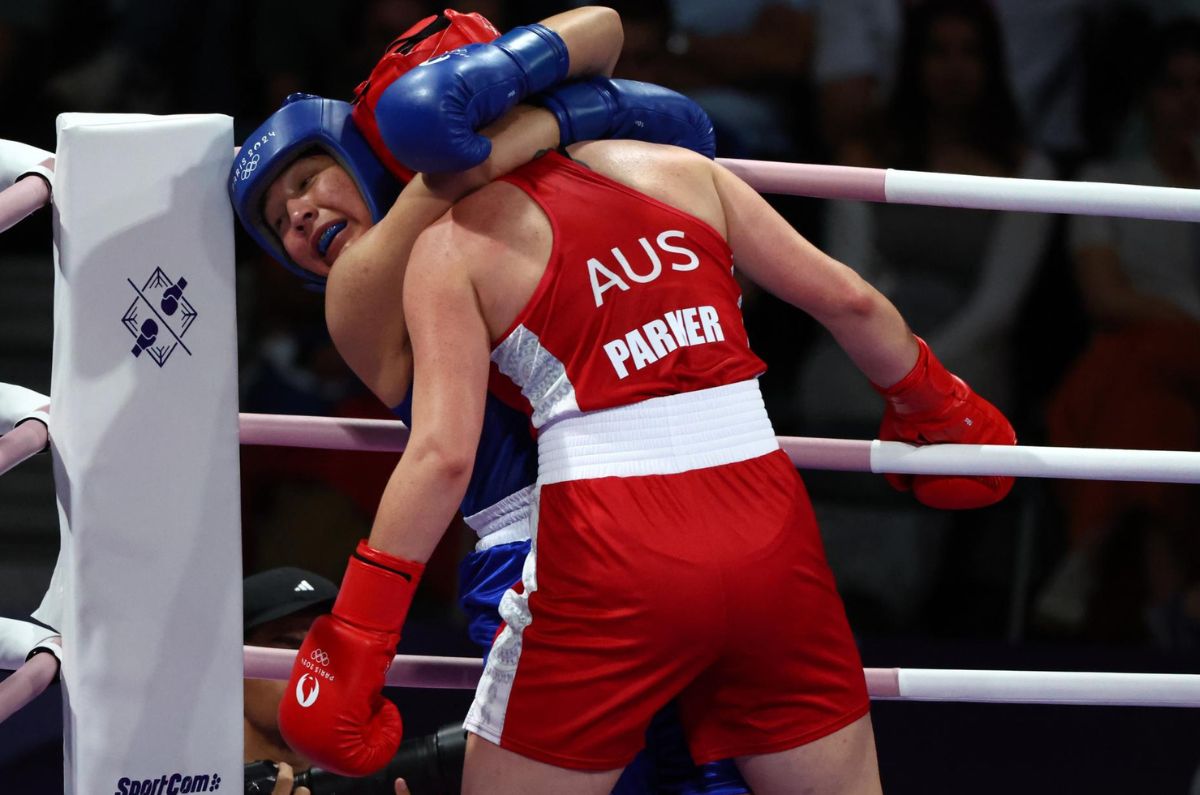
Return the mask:
<path fill-rule="evenodd" d="M 625 25 L 617 76 L 696 98 L 720 156 L 1200 187 L 1194 0 L 608 5 Z M 292 91 L 349 98 L 440 7 L 4 0 L 0 138 L 53 150 L 64 110 L 226 113 L 240 138 Z M 506 29 L 564 7 L 458 10 Z M 1200 449 L 1193 227 L 772 201 L 886 292 L 1020 443 Z M 49 243 L 48 210 L 0 238 L 0 381 L 42 391 Z M 241 410 L 386 417 L 330 345 L 319 295 L 248 239 L 238 252 Z M 750 285 L 745 313 L 779 434 L 874 437 L 882 404 L 812 321 Z M 246 573 L 336 580 L 394 462 L 242 448 Z M 1200 486 L 1025 480 L 995 508 L 949 514 L 875 476 L 805 478 L 868 665 L 1200 673 Z M 50 480 L 44 456 L 0 478 L 2 615 L 26 616 L 48 581 Z M 469 653 L 454 604 L 469 544 L 462 526 L 446 534 L 410 651 Z M 876 723 L 892 791 L 1188 791 L 1200 763 L 1189 711 L 877 704 Z M 1082 748 L 1100 749 L 1092 772 Z M 961 789 L 926 789 L 931 765 Z"/>

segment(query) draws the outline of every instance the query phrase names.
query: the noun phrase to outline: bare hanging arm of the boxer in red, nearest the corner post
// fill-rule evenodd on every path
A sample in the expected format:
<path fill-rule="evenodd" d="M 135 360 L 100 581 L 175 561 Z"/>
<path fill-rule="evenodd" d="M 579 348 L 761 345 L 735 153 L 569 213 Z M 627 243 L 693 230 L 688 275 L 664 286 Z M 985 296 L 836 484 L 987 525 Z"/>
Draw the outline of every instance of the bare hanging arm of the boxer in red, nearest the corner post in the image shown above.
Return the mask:
<path fill-rule="evenodd" d="M 370 544 L 426 561 L 462 502 L 487 394 L 490 336 L 467 263 L 496 253 L 451 216 L 413 251 L 404 311 L 413 346 L 413 432 L 376 514 Z M 503 253 L 491 262 L 503 268 Z"/>

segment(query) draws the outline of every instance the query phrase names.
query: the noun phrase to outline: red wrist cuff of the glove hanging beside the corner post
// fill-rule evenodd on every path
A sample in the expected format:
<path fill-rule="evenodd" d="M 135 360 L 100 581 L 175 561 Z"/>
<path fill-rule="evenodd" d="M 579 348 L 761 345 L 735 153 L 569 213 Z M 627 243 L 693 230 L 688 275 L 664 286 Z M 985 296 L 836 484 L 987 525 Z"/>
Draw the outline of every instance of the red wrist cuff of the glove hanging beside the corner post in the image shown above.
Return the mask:
<path fill-rule="evenodd" d="M 346 567 L 334 615 L 356 627 L 398 633 L 425 564 L 359 542 Z"/>

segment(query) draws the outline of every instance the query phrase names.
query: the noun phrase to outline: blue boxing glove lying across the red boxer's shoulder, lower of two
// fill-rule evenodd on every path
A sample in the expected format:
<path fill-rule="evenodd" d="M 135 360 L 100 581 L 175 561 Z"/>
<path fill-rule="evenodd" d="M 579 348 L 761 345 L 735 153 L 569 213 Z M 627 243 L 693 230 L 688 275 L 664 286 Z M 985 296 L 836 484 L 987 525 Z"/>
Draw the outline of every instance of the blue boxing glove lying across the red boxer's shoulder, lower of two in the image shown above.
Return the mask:
<path fill-rule="evenodd" d="M 716 155 L 708 114 L 678 91 L 654 83 L 593 77 L 568 83 L 533 100 L 558 119 L 559 143 L 632 138 Z"/>

